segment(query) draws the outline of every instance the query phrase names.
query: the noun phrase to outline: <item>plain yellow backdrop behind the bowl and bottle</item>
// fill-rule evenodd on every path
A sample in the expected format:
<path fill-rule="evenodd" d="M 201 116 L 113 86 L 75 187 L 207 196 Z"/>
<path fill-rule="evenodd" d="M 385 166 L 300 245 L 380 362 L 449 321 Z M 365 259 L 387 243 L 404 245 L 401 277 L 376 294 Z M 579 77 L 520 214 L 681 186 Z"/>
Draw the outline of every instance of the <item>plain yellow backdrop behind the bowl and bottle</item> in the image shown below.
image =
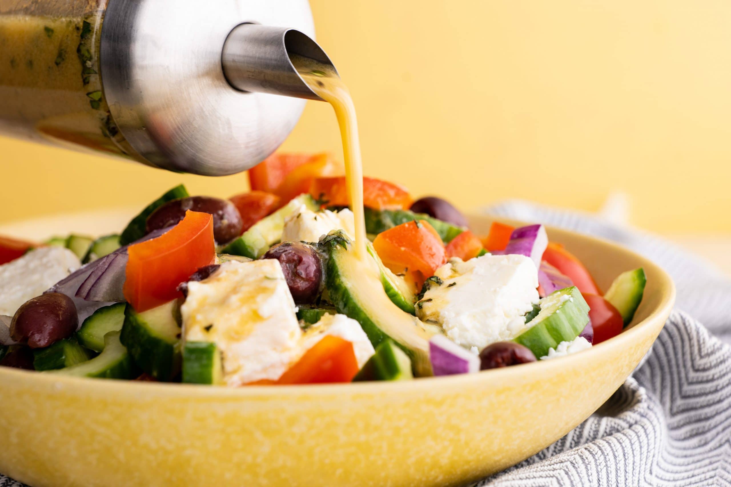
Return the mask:
<path fill-rule="evenodd" d="M 312 0 L 351 87 L 367 175 L 461 207 L 596 210 L 626 191 L 655 231 L 731 232 L 728 0 Z M 340 153 L 308 102 L 285 150 Z M 0 221 L 145 204 L 206 178 L 0 139 Z"/>

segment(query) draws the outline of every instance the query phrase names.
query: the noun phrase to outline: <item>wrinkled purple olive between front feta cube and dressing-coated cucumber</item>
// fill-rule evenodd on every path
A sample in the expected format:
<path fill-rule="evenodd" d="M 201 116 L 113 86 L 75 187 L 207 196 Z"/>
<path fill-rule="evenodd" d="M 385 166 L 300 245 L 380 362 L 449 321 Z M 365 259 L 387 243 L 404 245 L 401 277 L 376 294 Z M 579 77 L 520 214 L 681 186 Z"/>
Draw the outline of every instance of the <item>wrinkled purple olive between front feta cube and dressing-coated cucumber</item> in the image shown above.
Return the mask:
<path fill-rule="evenodd" d="M 314 302 L 322 283 L 322 261 L 317 250 L 300 242 L 274 245 L 262 258 L 276 258 L 297 304 Z"/>

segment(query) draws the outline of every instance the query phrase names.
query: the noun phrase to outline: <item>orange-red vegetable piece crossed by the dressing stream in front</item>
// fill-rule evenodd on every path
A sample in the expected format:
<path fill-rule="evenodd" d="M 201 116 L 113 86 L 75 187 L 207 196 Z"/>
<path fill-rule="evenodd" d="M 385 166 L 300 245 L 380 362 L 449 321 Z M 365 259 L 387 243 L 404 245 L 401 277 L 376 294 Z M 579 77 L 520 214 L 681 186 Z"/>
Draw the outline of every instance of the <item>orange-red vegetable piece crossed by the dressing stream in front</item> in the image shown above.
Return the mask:
<path fill-rule="evenodd" d="M 345 177 L 320 177 L 310 186 L 310 194 L 324 199 L 330 206 L 347 206 L 348 186 Z M 375 210 L 403 210 L 412 204 L 409 191 L 401 185 L 363 177 L 363 206 Z"/>

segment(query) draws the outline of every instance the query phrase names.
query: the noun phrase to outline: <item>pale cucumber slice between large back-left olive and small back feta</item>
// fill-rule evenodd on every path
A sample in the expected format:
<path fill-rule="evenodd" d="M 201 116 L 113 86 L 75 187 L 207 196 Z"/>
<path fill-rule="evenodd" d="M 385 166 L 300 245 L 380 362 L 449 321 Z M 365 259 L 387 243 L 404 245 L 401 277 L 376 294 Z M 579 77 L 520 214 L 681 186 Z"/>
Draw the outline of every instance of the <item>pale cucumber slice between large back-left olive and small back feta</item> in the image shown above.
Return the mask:
<path fill-rule="evenodd" d="M 257 223 L 254 223 L 254 226 L 246 230 L 243 235 L 224 247 L 221 253 L 260 258 L 272 245 L 281 239 L 281 232 L 284 230 L 284 219 L 303 204 L 308 210 L 317 211 L 319 209 L 319 205 L 312 196 L 300 194 L 300 196 L 285 204 L 284 207 L 279 208 L 279 210 L 276 210 L 276 212 L 273 212 L 268 217 L 262 218 Z"/>

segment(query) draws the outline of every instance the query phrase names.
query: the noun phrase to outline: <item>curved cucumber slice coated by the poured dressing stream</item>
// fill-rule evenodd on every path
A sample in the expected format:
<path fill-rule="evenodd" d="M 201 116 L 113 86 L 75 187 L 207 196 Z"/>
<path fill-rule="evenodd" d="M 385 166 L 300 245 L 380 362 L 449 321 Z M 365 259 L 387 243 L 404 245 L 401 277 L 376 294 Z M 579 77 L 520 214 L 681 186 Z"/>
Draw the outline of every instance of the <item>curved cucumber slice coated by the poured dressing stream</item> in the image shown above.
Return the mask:
<path fill-rule="evenodd" d="M 359 322 L 374 347 L 390 338 L 412 359 L 417 375 L 431 375 L 431 333 L 416 317 L 391 302 L 376 261 L 357 258 L 352 242 L 341 231 L 325 237 L 320 247 L 329 256 L 325 288 L 336 310 Z"/>

